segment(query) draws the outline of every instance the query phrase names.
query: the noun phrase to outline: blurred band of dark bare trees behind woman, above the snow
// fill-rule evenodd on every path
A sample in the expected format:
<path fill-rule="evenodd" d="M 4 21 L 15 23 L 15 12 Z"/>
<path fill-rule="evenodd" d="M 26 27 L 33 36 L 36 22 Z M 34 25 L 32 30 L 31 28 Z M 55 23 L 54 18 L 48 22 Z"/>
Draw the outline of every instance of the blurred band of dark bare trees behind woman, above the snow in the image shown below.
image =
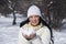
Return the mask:
<path fill-rule="evenodd" d="M 26 16 L 30 6 L 36 4 L 41 8 L 44 20 L 54 29 L 59 29 L 66 21 L 66 0 L 0 0 L 0 15 L 15 14 Z"/>

